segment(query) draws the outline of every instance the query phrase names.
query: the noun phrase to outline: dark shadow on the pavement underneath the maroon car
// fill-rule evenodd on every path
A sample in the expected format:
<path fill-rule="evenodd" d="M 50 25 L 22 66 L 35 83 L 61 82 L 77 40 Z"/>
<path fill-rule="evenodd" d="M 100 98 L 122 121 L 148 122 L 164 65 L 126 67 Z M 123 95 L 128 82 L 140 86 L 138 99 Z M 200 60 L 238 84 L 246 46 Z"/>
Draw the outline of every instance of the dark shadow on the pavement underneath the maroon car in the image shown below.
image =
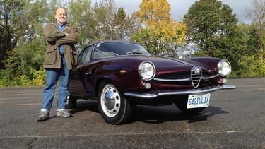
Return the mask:
<path fill-rule="evenodd" d="M 78 114 L 89 110 L 91 112 L 99 113 L 98 102 L 96 100 L 78 101 L 76 109 L 71 109 L 71 114 Z M 208 117 L 213 117 L 216 114 L 228 114 L 229 112 L 223 111 L 220 107 L 207 107 L 199 114 L 185 114 L 181 112 L 177 107 L 172 105 L 165 106 L 146 106 L 136 105 L 134 112 L 131 115 L 131 119 L 127 124 L 134 123 L 136 121 L 142 121 L 150 124 L 160 124 L 165 121 L 183 121 L 187 120 L 188 123 L 194 123 L 196 121 L 206 121 Z"/>

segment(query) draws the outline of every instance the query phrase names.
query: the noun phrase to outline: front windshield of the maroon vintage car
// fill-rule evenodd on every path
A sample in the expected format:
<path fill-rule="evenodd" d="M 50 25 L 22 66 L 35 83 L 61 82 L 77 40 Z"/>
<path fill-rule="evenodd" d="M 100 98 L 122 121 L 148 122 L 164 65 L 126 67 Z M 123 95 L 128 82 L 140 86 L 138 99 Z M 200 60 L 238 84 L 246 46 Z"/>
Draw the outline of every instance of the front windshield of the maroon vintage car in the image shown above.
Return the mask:
<path fill-rule="evenodd" d="M 151 56 L 141 44 L 132 42 L 105 42 L 95 45 L 93 58 L 102 59 L 132 54 Z"/>

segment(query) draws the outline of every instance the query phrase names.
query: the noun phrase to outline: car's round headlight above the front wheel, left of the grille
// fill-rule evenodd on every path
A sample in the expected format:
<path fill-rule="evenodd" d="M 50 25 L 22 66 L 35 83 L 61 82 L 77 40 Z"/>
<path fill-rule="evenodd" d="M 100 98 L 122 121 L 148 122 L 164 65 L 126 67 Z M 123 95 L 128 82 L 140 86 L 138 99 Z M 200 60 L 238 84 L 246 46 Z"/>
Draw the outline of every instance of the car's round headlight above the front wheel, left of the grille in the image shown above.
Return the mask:
<path fill-rule="evenodd" d="M 155 66 L 150 61 L 143 61 L 138 68 L 139 76 L 144 80 L 151 80 L 155 76 Z"/>

